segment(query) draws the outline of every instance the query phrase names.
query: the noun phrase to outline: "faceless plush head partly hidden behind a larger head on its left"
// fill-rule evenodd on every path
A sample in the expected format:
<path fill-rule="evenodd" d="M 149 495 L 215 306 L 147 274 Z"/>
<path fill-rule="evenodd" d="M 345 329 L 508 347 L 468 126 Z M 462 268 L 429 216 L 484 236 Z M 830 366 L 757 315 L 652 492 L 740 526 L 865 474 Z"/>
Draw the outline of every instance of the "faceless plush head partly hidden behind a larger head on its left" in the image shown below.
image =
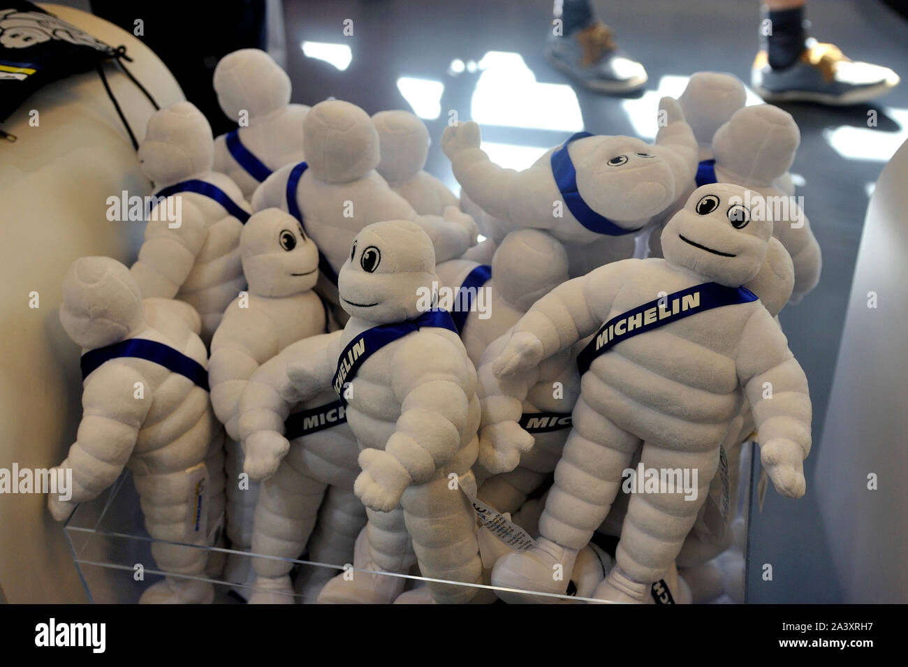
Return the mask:
<path fill-rule="evenodd" d="M 378 172 L 389 183 L 409 181 L 426 165 L 429 129 L 410 112 L 387 111 L 372 116 L 379 132 Z"/>

